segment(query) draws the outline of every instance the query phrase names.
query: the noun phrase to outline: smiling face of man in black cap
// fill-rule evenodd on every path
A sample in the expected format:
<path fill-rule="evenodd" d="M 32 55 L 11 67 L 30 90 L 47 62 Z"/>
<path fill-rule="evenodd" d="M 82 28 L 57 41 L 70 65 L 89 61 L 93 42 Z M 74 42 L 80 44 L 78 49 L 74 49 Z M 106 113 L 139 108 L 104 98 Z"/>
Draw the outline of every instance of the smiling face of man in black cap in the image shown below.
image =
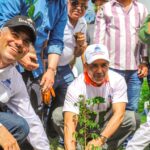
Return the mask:
<path fill-rule="evenodd" d="M 10 64 L 24 57 L 29 51 L 30 41 L 25 32 L 15 32 L 10 28 L 3 28 L 0 31 L 0 57 L 2 62 Z"/>

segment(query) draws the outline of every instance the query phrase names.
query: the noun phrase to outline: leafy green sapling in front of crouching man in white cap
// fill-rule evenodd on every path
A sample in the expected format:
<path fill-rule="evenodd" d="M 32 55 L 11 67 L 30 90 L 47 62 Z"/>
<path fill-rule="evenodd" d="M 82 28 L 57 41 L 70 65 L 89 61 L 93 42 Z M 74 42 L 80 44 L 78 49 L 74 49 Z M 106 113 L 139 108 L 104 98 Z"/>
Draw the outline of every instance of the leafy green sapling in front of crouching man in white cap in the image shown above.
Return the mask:
<path fill-rule="evenodd" d="M 77 142 L 81 146 L 82 150 L 85 150 L 88 142 L 92 139 L 99 137 L 101 132 L 100 125 L 103 123 L 106 112 L 102 112 L 98 121 L 95 121 L 98 113 L 90 110 L 95 104 L 104 103 L 104 98 L 95 97 L 92 99 L 85 99 L 83 95 L 79 96 L 79 102 L 75 105 L 79 106 L 80 113 L 78 115 L 78 130 L 74 133 Z M 77 115 L 74 115 L 74 120 L 77 119 Z M 92 150 L 100 150 L 100 148 L 93 145 Z"/>

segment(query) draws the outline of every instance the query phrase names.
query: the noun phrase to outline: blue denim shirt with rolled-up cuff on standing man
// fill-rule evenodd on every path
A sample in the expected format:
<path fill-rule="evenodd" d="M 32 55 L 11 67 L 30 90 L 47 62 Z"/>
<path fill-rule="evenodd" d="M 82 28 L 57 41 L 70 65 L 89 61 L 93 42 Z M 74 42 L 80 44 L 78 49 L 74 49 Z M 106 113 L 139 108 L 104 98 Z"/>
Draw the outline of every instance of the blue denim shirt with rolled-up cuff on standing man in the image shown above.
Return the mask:
<path fill-rule="evenodd" d="M 37 28 L 35 50 L 39 63 L 39 68 L 33 71 L 33 76 L 36 78 L 43 73 L 41 52 L 44 41 L 48 39 L 46 53 L 61 55 L 63 51 L 67 0 L 32 0 L 31 4 L 29 2 L 27 0 L 0 0 L 0 27 L 12 17 L 28 15 L 31 9 L 34 10 L 31 18 Z M 24 69 L 20 66 L 19 71 L 23 72 Z"/>

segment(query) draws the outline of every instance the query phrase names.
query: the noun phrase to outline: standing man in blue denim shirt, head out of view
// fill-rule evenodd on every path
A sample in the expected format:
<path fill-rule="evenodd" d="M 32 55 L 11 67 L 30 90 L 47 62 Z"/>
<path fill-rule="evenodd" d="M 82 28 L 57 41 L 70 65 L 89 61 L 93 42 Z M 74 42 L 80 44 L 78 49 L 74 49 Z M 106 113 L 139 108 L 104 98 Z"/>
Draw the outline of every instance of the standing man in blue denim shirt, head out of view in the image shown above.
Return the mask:
<path fill-rule="evenodd" d="M 66 0 L 0 0 L 0 26 L 19 14 L 30 16 L 36 24 L 37 39 L 34 46 L 37 58 L 34 52 L 30 52 L 19 61 L 25 68 L 19 67 L 19 71 L 23 75 L 34 108 L 41 103 L 40 87 L 47 91 L 54 83 L 57 64 L 64 46 L 66 3 Z M 43 74 L 41 53 L 44 47 L 48 67 Z"/>

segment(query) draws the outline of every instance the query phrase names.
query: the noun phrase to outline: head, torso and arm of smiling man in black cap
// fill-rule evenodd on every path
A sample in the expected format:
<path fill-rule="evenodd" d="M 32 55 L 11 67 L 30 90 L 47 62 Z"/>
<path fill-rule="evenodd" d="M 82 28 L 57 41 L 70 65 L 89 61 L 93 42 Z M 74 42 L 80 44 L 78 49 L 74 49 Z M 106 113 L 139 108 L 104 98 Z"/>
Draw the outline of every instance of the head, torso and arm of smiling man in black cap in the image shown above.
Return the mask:
<path fill-rule="evenodd" d="M 22 76 L 15 67 L 16 61 L 29 52 L 35 39 L 34 23 L 26 16 L 12 18 L 0 30 L 0 102 L 27 121 L 30 128 L 27 138 L 34 149 L 49 150 L 43 125 L 31 106 Z"/>

